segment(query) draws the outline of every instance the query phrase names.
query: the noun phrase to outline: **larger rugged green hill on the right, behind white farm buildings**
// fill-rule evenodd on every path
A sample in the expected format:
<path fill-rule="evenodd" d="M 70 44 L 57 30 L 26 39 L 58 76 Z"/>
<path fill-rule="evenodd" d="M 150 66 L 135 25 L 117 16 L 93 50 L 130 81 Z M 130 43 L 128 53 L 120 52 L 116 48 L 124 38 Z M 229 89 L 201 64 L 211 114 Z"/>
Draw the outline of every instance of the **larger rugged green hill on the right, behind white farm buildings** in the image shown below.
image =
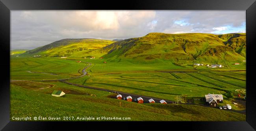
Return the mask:
<path fill-rule="evenodd" d="M 246 57 L 246 34 L 149 33 L 103 47 L 104 57 L 119 59 L 171 59 L 184 61 L 242 61 Z"/>

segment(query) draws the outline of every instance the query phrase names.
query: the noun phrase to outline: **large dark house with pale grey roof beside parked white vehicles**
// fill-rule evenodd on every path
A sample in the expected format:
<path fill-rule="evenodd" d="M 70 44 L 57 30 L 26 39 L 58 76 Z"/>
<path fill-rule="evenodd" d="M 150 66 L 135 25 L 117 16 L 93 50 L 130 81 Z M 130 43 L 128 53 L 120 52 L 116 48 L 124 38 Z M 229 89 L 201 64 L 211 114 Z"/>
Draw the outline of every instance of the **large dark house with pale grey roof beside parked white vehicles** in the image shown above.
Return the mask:
<path fill-rule="evenodd" d="M 210 107 L 216 107 L 219 102 L 223 102 L 222 94 L 207 94 L 204 96 L 206 104 Z"/>

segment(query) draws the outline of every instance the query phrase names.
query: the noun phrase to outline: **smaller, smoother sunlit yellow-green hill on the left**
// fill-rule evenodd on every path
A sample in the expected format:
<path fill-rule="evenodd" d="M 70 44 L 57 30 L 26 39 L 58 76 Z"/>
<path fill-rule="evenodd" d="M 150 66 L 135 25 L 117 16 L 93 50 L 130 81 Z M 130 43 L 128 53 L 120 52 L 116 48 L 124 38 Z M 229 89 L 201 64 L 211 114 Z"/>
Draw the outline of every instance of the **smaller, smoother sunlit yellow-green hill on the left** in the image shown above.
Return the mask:
<path fill-rule="evenodd" d="M 100 39 L 62 39 L 30 50 L 21 56 L 42 55 L 43 57 L 70 56 L 77 52 L 91 52 L 115 41 Z"/>

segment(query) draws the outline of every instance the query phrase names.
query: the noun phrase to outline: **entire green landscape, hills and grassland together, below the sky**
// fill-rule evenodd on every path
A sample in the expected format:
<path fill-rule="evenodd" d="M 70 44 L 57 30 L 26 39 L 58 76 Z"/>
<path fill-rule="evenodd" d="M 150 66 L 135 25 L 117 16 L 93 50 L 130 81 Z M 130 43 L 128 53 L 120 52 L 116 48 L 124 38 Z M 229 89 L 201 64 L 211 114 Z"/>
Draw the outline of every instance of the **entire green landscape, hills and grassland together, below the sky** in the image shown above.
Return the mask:
<path fill-rule="evenodd" d="M 245 40 L 244 33 L 149 33 L 117 42 L 63 39 L 19 57 L 11 55 L 11 116 L 51 114 L 52 117 L 130 117 L 132 121 L 244 121 Z M 65 58 L 61 58 L 63 56 Z M 208 68 L 208 64 L 224 67 Z M 82 76 L 85 67 L 87 75 Z M 174 105 L 138 104 L 117 100 L 116 94 L 110 92 L 68 85 L 58 79 L 169 101 L 177 101 L 177 96 L 182 96 L 184 100 Z M 52 97 L 53 90 L 66 94 Z M 223 94 L 224 102 L 219 106 L 230 104 L 232 110 L 204 105 L 202 98 L 208 93 Z"/>

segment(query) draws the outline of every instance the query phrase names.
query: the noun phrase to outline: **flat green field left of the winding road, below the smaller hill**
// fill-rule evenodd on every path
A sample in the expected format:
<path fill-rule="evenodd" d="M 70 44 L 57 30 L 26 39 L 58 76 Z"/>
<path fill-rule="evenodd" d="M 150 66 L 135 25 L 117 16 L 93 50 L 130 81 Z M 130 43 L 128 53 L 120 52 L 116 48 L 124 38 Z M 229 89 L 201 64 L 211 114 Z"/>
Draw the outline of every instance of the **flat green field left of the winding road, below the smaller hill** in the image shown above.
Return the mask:
<path fill-rule="evenodd" d="M 11 80 L 47 80 L 80 76 L 87 63 L 61 58 L 11 57 Z M 79 72 L 80 70 L 80 72 Z"/>

